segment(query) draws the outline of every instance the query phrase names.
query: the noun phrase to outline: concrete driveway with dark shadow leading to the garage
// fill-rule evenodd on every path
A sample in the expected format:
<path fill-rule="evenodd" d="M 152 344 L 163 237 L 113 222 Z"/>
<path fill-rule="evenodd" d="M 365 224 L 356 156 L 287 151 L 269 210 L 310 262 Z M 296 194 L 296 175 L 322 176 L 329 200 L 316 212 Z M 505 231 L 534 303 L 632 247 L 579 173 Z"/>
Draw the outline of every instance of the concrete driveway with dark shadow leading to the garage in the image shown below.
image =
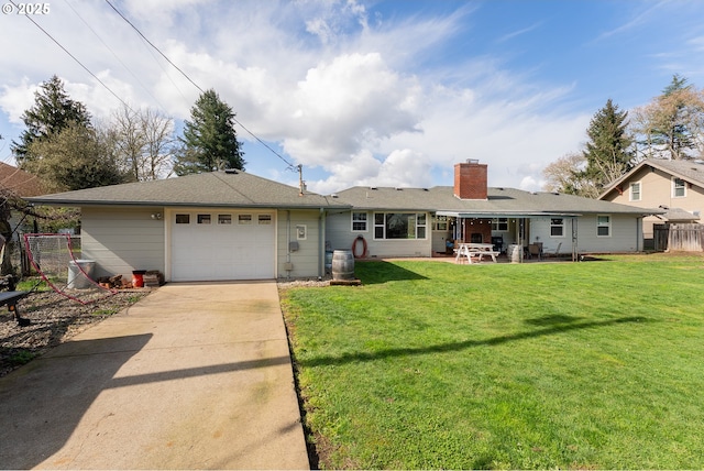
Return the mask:
<path fill-rule="evenodd" d="M 308 469 L 275 282 L 167 284 L 0 379 L 4 469 Z"/>

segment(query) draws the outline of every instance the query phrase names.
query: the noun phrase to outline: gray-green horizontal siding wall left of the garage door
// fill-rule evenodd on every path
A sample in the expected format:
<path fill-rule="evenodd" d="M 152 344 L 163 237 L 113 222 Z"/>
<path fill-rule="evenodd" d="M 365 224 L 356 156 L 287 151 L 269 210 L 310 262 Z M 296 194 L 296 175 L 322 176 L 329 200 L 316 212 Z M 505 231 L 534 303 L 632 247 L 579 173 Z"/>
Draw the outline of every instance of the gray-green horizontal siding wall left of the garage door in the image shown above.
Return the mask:
<path fill-rule="evenodd" d="M 81 256 L 96 261 L 96 276 L 121 274 L 130 280 L 133 270 L 164 272 L 165 219 L 151 215 L 163 208 L 81 208 Z"/>

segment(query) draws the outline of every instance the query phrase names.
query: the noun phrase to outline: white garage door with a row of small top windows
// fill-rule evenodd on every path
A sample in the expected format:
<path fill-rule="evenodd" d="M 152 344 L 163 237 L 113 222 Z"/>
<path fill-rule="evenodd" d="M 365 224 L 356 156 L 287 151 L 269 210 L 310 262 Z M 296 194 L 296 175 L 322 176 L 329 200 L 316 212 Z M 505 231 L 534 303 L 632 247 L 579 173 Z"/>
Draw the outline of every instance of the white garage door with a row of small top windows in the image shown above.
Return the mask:
<path fill-rule="evenodd" d="M 273 211 L 177 211 L 170 224 L 173 281 L 275 277 Z"/>

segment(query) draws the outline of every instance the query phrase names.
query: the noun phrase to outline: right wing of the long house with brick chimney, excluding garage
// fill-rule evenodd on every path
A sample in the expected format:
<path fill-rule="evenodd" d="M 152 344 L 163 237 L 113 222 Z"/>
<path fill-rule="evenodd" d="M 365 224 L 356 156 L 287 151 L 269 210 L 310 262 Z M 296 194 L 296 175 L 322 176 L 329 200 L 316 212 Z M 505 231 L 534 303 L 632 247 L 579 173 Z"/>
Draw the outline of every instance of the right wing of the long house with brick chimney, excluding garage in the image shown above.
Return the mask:
<path fill-rule="evenodd" d="M 455 240 L 501 244 L 542 243 L 561 253 L 638 252 L 641 219 L 658 210 L 596 199 L 487 187 L 487 166 L 457 164 L 454 186 L 354 187 L 333 195 L 352 207 L 328 217 L 333 249 L 367 256 L 431 256 Z M 363 238 L 355 243 L 358 238 Z"/>

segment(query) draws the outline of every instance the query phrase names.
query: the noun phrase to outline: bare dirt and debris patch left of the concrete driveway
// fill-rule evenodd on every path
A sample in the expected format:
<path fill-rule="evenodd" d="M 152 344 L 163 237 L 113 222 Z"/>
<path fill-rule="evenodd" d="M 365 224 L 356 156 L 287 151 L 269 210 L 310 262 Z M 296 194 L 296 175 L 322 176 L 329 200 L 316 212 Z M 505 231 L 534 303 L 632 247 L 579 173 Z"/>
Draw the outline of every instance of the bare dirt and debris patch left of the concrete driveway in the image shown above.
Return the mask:
<path fill-rule="evenodd" d="M 18 303 L 22 318 L 31 321 L 26 327 L 20 327 L 12 313 L 1 307 L 0 376 L 120 313 L 148 293 L 150 289 L 119 292 L 88 305 L 55 292 L 32 293 Z"/>

